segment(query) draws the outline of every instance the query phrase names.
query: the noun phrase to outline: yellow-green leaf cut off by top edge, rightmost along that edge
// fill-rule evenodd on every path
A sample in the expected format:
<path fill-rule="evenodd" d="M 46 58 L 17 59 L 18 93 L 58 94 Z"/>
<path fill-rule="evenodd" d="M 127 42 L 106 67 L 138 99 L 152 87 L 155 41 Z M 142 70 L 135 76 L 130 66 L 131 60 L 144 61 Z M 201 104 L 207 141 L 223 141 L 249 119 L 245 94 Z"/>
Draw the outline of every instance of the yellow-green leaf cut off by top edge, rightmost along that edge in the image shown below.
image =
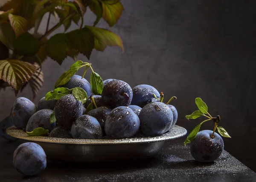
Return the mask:
<path fill-rule="evenodd" d="M 102 0 L 101 3 L 102 18 L 110 27 L 114 26 L 124 10 L 122 3 L 115 3 L 113 0 Z"/>

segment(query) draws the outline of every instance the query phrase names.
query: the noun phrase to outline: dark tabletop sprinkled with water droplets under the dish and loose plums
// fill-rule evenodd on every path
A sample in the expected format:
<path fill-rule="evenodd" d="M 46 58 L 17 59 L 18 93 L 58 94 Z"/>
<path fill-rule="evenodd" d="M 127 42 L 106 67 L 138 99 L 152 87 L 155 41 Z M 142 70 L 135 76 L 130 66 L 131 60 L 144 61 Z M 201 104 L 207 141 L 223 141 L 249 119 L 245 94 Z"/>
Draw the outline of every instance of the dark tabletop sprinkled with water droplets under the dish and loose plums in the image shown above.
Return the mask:
<path fill-rule="evenodd" d="M 256 173 L 224 151 L 210 164 L 196 162 L 182 139 L 165 143 L 159 154 L 136 162 L 68 164 L 47 161 L 38 176 L 23 176 L 12 165 L 19 142 L 0 139 L 0 182 L 256 182 Z"/>

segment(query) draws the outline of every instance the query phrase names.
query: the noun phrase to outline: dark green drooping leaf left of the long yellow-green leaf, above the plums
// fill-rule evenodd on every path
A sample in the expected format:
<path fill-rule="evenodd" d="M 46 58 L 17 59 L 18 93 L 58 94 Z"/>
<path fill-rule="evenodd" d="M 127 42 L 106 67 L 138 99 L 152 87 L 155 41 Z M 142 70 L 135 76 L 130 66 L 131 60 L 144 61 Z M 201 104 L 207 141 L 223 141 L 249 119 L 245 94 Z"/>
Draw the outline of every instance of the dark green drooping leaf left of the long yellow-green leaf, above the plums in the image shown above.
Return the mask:
<path fill-rule="evenodd" d="M 46 43 L 47 55 L 60 65 L 68 55 L 73 53 L 73 49 L 64 33 L 53 35 Z"/>

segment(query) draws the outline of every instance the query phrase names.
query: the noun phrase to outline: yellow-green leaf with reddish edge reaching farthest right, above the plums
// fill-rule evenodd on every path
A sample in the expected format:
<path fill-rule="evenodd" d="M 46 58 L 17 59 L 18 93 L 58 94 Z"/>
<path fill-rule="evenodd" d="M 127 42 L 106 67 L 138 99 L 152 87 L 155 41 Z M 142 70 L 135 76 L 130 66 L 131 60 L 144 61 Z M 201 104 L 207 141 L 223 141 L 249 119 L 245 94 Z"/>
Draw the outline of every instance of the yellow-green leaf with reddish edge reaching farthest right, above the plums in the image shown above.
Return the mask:
<path fill-rule="evenodd" d="M 97 28 L 93 26 L 85 26 L 94 35 L 94 48 L 98 51 L 104 51 L 107 46 L 119 46 L 123 51 L 123 44 L 121 38 L 104 28 Z"/>

